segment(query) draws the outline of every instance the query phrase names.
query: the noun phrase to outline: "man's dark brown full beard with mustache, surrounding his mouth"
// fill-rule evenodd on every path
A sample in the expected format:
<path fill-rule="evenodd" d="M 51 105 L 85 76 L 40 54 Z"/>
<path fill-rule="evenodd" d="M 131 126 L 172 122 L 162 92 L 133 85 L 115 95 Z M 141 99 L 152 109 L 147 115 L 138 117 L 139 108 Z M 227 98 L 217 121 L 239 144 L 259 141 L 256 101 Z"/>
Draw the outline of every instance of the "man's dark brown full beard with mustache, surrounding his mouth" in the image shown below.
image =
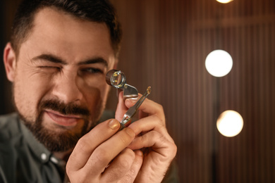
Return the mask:
<path fill-rule="evenodd" d="M 30 132 L 32 132 L 40 143 L 44 144 L 44 146 L 51 152 L 63 152 L 73 149 L 78 140 L 83 135 L 87 134 L 87 132 L 92 130 L 95 124 L 90 125 L 91 127 L 89 127 L 90 121 L 95 123 L 97 118 L 100 116 L 100 111 L 102 111 L 101 108 L 101 106 L 97 108 L 95 111 L 95 115 L 97 116 L 92 118 L 90 117 L 90 111 L 87 108 L 82 108 L 73 103 L 65 104 L 57 100 L 41 101 L 37 107 L 35 121 L 27 120 L 20 111 L 17 111 L 25 126 L 30 130 Z M 63 115 L 80 115 L 84 120 L 84 125 L 82 125 L 80 132 L 72 132 L 65 127 L 60 127 L 60 132 L 56 132 L 56 129 L 47 129 L 42 125 L 44 109 L 58 111 Z"/>

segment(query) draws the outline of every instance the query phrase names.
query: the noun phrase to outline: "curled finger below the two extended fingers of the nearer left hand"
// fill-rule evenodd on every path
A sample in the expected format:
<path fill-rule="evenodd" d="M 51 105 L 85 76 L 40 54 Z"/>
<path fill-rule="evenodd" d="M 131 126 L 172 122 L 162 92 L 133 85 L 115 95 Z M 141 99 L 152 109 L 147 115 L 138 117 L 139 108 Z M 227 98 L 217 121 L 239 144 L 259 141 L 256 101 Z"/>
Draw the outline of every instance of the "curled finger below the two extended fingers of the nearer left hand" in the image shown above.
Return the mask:
<path fill-rule="evenodd" d="M 135 160 L 135 153 L 131 149 L 124 149 L 102 174 L 103 182 L 114 182 L 124 177 Z"/>

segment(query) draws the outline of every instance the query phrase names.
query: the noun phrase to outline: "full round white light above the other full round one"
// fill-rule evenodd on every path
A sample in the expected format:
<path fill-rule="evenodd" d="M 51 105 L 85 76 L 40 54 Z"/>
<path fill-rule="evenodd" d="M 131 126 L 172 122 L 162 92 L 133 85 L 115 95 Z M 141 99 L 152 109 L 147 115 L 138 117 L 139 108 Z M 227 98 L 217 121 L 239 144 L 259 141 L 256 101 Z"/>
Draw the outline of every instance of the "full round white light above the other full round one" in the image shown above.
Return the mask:
<path fill-rule="evenodd" d="M 233 66 L 232 57 L 224 50 L 217 49 L 208 54 L 205 59 L 205 68 L 210 75 L 223 77 L 227 75 Z"/>

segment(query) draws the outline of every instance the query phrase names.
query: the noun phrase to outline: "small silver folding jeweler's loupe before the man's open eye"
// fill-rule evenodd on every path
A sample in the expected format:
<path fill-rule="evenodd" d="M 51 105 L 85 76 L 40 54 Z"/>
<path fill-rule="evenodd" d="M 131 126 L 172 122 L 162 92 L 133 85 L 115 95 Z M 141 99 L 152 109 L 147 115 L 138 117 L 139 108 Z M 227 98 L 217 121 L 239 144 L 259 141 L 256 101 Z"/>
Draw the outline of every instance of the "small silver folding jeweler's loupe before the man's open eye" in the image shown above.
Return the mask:
<path fill-rule="evenodd" d="M 109 70 L 106 74 L 106 82 L 116 89 L 122 89 L 124 99 L 138 97 L 138 89 L 126 84 L 126 76 L 121 70 Z"/>

